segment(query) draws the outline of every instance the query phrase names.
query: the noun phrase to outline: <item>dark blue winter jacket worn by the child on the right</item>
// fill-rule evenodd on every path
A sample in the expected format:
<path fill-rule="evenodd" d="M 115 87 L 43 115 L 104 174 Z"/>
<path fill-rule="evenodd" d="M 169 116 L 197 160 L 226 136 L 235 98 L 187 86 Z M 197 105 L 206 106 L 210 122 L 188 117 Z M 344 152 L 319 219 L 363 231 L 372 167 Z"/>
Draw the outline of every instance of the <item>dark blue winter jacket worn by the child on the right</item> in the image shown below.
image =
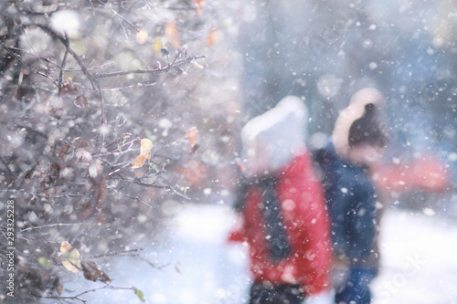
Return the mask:
<path fill-rule="evenodd" d="M 323 173 L 323 186 L 332 220 L 335 255 L 351 262 L 370 254 L 375 236 L 376 194 L 367 169 L 337 156 L 328 143 L 314 153 Z"/>

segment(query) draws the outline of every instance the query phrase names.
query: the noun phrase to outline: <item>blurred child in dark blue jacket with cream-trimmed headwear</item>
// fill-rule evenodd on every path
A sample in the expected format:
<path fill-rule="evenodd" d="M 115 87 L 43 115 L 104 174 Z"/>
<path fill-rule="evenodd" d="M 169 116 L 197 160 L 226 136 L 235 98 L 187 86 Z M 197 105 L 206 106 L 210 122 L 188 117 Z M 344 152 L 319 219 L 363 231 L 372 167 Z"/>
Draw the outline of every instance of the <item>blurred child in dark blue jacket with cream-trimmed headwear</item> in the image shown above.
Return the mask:
<path fill-rule="evenodd" d="M 377 89 L 357 91 L 335 122 L 332 142 L 314 153 L 331 217 L 336 303 L 371 302 L 369 284 L 377 275 L 371 252 L 377 195 L 369 168 L 388 143 L 379 120 L 382 105 Z"/>

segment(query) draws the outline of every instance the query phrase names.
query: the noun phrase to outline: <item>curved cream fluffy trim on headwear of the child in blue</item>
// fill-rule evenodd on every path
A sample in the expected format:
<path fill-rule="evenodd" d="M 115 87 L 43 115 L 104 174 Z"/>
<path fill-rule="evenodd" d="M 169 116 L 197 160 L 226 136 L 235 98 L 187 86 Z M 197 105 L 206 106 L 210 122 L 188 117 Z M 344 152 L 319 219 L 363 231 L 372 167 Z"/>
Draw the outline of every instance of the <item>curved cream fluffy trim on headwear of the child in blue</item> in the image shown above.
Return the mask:
<path fill-rule="evenodd" d="M 362 118 L 366 113 L 366 106 L 373 104 L 379 110 L 385 107 L 384 96 L 378 89 L 366 88 L 356 91 L 352 96 L 349 105 L 340 112 L 335 121 L 335 128 L 332 134 L 332 141 L 335 144 L 335 151 L 338 155 L 345 159 L 351 159 L 351 152 L 355 148 L 351 148 L 349 144 L 349 131 L 353 123 Z M 382 126 L 379 126 L 380 128 Z M 381 128 L 382 129 L 382 128 Z"/>

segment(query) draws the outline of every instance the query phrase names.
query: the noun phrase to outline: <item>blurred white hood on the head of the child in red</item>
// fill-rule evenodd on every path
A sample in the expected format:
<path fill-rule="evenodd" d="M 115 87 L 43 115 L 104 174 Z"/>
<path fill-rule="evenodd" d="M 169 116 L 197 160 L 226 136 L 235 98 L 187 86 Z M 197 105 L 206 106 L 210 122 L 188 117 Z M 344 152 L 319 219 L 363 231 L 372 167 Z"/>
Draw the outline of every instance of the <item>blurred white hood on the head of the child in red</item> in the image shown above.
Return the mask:
<path fill-rule="evenodd" d="M 303 152 L 307 121 L 308 110 L 295 96 L 248 121 L 241 130 L 248 176 L 274 172 Z"/>

